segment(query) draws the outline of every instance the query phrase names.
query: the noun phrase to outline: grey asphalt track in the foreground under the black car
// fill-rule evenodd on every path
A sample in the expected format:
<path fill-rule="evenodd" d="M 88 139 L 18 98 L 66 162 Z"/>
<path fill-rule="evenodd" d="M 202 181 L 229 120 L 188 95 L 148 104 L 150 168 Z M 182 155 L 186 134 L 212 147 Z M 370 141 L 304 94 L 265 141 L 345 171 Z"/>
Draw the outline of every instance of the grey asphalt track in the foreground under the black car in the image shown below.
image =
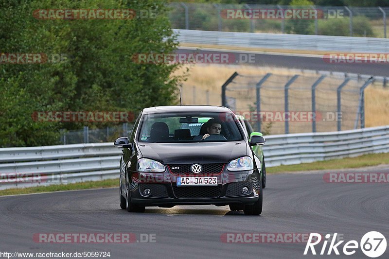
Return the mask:
<path fill-rule="evenodd" d="M 364 171 L 388 173 L 389 166 Z M 147 207 L 143 214 L 128 213 L 119 208 L 118 189 L 0 197 L 0 251 L 109 251 L 113 259 L 300 259 L 329 256 L 303 256 L 304 243 L 225 243 L 220 237 L 223 233 L 336 232 L 343 234 L 345 242 L 360 242 L 365 233 L 379 231 L 389 242 L 389 184 L 326 183 L 323 173 L 268 175 L 260 216 L 215 206 Z M 156 234 L 156 242 L 50 244 L 34 242 L 34 233 L 135 233 L 138 240 L 147 233 Z M 320 249 L 321 244 L 317 252 Z M 389 248 L 380 258 L 388 257 Z M 357 249 L 353 256 L 336 258 L 368 257 Z"/>

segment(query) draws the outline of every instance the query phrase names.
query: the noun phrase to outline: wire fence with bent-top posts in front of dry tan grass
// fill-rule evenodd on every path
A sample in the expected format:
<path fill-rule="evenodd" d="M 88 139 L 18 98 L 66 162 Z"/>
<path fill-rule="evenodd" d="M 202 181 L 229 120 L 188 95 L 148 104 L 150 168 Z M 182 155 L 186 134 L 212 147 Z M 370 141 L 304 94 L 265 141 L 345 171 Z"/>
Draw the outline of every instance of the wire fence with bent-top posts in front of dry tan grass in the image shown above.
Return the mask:
<path fill-rule="evenodd" d="M 365 127 L 364 89 L 373 79 L 329 75 L 234 73 L 222 104 L 266 135 Z"/>

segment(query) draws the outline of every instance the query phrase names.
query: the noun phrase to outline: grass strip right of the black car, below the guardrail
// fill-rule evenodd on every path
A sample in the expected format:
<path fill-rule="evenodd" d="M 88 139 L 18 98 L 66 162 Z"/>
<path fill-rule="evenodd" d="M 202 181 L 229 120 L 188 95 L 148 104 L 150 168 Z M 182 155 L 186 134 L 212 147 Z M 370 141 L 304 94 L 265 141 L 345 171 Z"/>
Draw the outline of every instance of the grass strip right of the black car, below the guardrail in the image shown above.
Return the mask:
<path fill-rule="evenodd" d="M 331 170 L 331 169 L 346 169 L 360 168 L 367 166 L 389 164 L 389 154 L 368 154 L 356 157 L 346 157 L 341 159 L 331 159 L 318 161 L 313 163 L 302 163 L 298 165 L 281 165 L 266 168 L 266 173 L 284 173 L 298 171 L 313 171 L 313 170 Z"/>

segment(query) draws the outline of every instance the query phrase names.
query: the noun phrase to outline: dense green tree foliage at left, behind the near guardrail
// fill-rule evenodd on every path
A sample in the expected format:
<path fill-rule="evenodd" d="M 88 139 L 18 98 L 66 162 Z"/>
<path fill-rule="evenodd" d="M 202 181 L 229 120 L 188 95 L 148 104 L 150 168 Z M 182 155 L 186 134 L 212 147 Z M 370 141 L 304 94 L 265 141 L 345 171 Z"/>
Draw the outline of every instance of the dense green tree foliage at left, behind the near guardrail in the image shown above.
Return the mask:
<path fill-rule="evenodd" d="M 32 15 L 36 9 L 62 8 L 131 8 L 155 17 L 44 20 Z M 176 88 L 183 80 L 171 75 L 176 64 L 132 60 L 137 53 L 176 49 L 163 0 L 8 0 L 0 12 L 1 52 L 67 57 L 62 63 L 0 64 L 0 146 L 56 144 L 59 129 L 85 125 L 34 121 L 35 111 L 137 113 L 143 107 L 176 103 Z"/>

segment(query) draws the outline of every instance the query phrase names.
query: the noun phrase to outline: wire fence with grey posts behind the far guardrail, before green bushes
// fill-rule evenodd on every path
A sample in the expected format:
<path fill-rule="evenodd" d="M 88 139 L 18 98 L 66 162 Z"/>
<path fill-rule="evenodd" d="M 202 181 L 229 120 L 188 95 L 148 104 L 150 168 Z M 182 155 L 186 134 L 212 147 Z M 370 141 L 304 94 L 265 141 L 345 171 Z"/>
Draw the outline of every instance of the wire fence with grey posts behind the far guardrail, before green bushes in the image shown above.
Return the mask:
<path fill-rule="evenodd" d="M 175 29 L 387 37 L 389 7 L 183 2 L 172 2 L 169 6 L 169 18 Z M 301 15 L 311 11 L 315 14 Z"/>

